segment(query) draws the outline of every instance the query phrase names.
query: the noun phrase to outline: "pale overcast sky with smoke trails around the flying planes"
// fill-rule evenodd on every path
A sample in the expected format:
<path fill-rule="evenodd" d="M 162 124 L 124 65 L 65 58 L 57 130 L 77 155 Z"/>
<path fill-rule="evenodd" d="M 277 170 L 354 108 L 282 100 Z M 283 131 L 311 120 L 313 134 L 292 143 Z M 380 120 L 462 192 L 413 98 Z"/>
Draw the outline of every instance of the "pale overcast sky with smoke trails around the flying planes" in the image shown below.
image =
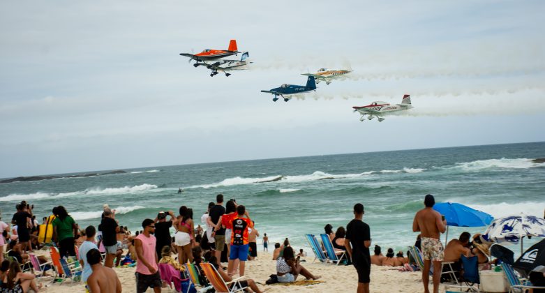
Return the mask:
<path fill-rule="evenodd" d="M 384 3 L 383 3 L 384 2 Z M 1 1 L 0 177 L 545 140 L 544 1 Z M 227 49 L 251 70 L 193 68 Z M 301 73 L 349 80 L 285 103 Z M 359 121 L 373 100 L 414 109 Z"/>

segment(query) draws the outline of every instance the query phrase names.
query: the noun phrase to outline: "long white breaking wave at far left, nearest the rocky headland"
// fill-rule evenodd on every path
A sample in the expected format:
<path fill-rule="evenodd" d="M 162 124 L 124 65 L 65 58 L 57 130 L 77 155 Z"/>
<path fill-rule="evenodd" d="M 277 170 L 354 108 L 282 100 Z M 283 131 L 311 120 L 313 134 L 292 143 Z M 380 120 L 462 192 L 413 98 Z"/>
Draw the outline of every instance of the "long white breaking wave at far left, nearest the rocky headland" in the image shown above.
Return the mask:
<path fill-rule="evenodd" d="M 72 193 L 13 193 L 5 197 L 0 197 L 0 202 L 15 202 L 20 200 L 43 200 L 48 198 L 70 197 L 74 195 L 117 195 L 122 193 L 137 193 L 140 191 L 154 190 L 156 188 L 157 186 L 154 184 L 144 183 L 136 186 L 124 186 L 120 188 L 87 188 L 86 190 L 75 191 Z"/>

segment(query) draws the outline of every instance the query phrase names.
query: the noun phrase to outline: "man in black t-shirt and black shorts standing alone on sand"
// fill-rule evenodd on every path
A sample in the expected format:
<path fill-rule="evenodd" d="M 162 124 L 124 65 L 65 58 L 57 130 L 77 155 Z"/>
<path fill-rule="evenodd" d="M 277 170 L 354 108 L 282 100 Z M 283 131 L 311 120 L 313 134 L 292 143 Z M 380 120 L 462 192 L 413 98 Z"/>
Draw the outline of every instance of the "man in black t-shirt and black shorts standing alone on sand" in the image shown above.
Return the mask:
<path fill-rule="evenodd" d="M 371 279 L 371 231 L 364 223 L 364 205 L 354 204 L 354 220 L 346 225 L 345 248 L 358 273 L 357 293 L 368 293 Z M 350 246 L 352 244 L 352 246 Z"/>

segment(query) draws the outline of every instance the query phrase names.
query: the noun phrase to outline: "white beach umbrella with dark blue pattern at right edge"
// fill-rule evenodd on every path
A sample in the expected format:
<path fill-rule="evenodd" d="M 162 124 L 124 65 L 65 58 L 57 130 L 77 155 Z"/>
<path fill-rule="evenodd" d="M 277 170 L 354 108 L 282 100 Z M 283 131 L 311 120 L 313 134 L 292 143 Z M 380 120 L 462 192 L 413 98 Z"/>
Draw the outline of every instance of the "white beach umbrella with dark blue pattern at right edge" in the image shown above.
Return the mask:
<path fill-rule="evenodd" d="M 524 236 L 545 237 L 545 219 L 523 213 L 497 218 L 484 232 L 484 238 L 496 243 L 521 243 L 523 252 Z"/>

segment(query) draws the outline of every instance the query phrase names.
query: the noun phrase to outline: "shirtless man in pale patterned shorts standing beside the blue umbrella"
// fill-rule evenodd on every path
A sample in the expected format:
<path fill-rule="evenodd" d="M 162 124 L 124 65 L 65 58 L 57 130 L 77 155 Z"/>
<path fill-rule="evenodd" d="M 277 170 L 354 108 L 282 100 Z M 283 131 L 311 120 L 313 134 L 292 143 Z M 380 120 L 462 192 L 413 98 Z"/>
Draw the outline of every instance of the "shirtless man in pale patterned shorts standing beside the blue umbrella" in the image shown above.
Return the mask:
<path fill-rule="evenodd" d="M 420 232 L 422 254 L 424 255 L 424 270 L 422 270 L 422 282 L 424 283 L 424 293 L 429 293 L 428 283 L 430 281 L 430 266 L 433 261 L 435 268 L 441 267 L 441 262 L 445 257 L 443 245 L 439 240 L 440 234 L 447 230 L 447 221 L 442 218 L 440 213 L 433 210 L 435 199 L 433 195 L 426 195 L 424 198 L 424 209 L 421 209 L 415 215 L 412 221 L 412 232 Z M 433 270 L 433 292 L 439 292 L 439 282 L 441 270 Z"/>

